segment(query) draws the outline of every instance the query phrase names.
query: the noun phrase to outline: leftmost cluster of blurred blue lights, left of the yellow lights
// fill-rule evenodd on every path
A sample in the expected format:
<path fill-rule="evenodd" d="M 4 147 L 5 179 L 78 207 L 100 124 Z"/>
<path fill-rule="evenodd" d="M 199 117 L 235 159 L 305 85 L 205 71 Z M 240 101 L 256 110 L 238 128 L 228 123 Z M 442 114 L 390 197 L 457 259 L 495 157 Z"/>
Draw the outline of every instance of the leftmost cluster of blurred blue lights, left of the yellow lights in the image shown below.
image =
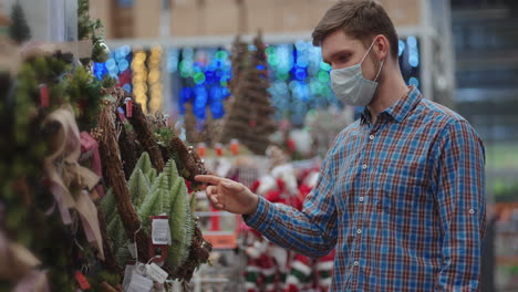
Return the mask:
<path fill-rule="evenodd" d="M 117 86 L 132 92 L 132 70 L 130 67 L 132 60 L 133 53 L 128 45 L 117 48 L 111 52 L 105 63 L 93 64 L 94 76 L 102 80 L 104 75 L 110 75 L 117 81 Z"/>

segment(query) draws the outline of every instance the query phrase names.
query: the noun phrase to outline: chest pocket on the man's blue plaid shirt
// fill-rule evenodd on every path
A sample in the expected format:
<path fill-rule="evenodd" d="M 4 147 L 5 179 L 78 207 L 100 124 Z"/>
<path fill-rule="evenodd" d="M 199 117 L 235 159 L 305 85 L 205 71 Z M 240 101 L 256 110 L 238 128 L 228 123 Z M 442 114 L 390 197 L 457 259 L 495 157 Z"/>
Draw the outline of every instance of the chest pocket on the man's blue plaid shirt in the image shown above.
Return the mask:
<path fill-rule="evenodd" d="M 419 164 L 382 164 L 375 176 L 376 206 L 391 215 L 410 215 L 429 204 L 425 168 Z"/>

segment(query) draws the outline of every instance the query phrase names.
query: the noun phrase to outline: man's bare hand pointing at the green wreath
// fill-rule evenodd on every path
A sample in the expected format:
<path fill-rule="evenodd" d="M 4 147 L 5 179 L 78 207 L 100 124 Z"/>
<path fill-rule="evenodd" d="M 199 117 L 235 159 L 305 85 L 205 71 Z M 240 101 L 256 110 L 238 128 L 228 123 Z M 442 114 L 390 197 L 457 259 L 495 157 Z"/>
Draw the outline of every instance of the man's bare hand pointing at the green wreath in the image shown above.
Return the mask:
<path fill-rule="evenodd" d="M 196 176 L 195 179 L 210 184 L 205 192 L 216 209 L 241 215 L 251 215 L 256 211 L 259 197 L 244 185 L 217 176 Z"/>

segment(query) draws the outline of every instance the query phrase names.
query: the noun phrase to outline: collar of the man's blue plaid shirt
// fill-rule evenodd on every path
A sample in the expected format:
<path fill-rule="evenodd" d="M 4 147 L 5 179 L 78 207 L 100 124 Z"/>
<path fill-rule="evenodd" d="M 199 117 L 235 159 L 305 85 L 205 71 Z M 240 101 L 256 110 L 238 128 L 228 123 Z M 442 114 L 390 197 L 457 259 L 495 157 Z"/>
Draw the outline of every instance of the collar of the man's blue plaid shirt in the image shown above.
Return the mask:
<path fill-rule="evenodd" d="M 412 109 L 414 109 L 414 107 L 421 102 L 422 98 L 423 96 L 419 90 L 417 90 L 417 87 L 415 87 L 414 85 L 411 85 L 408 86 L 408 91 L 403 97 L 401 97 L 396 103 L 383 111 L 380 115 L 391 116 L 397 123 L 402 123 L 406 118 L 406 116 L 412 112 Z M 370 121 L 371 113 L 365 107 L 361 116 L 361 123 L 367 124 L 370 123 Z"/>

